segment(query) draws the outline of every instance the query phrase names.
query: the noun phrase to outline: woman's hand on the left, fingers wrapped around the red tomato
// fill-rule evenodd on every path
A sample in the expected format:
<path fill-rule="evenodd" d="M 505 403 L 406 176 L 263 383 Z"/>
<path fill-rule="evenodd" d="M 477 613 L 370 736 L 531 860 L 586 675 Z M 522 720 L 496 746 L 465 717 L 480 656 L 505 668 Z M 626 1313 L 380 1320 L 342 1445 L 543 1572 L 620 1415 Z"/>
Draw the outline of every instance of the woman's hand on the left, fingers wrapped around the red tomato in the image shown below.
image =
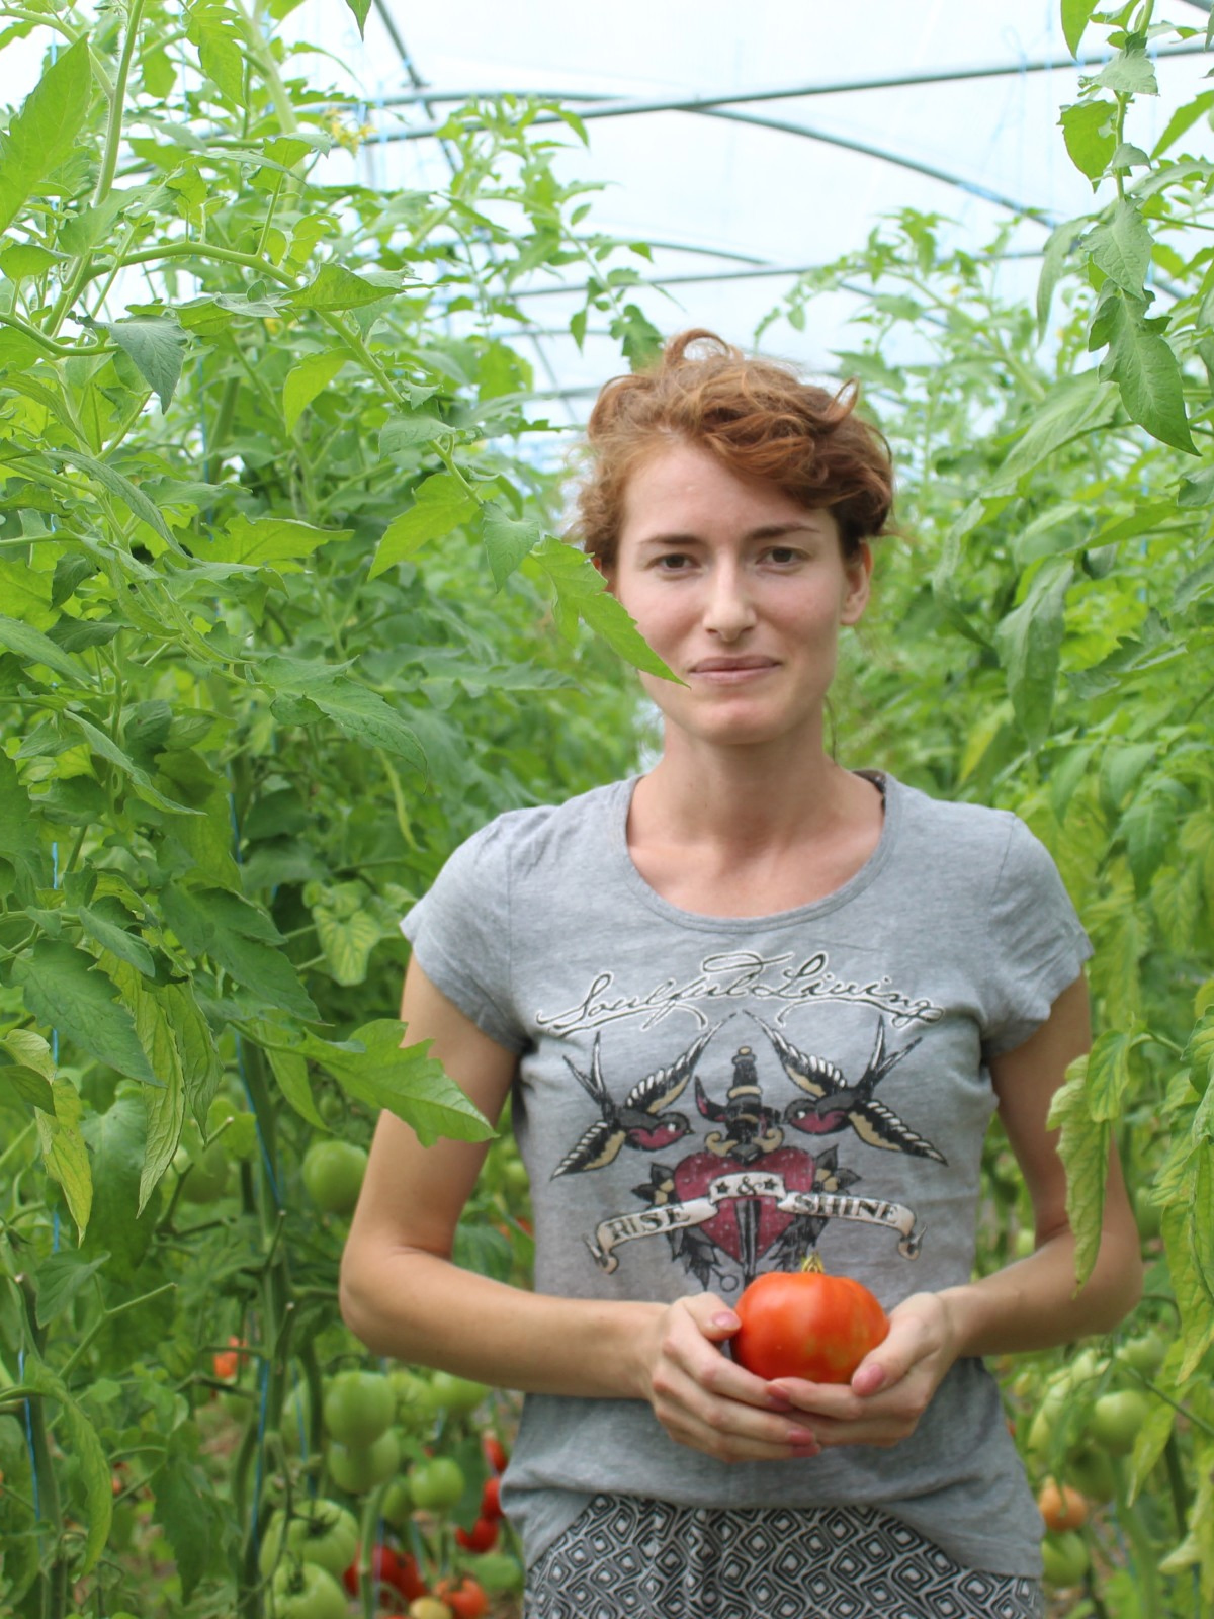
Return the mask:
<path fill-rule="evenodd" d="M 644 1392 L 678 1444 L 719 1462 L 817 1455 L 803 1413 L 762 1378 L 722 1355 L 741 1323 L 715 1294 L 690 1294 L 662 1310 L 646 1336 Z"/>

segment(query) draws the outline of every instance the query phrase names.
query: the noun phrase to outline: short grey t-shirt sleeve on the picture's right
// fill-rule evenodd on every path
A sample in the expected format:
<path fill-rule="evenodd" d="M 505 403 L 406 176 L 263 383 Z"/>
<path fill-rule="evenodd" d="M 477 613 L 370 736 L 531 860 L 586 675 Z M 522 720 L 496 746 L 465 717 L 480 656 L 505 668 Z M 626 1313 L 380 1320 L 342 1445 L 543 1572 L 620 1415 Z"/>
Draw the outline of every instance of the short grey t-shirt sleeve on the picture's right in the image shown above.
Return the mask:
<path fill-rule="evenodd" d="M 1054 858 L 1015 816 L 991 902 L 989 1060 L 1021 1046 L 1093 954 Z"/>

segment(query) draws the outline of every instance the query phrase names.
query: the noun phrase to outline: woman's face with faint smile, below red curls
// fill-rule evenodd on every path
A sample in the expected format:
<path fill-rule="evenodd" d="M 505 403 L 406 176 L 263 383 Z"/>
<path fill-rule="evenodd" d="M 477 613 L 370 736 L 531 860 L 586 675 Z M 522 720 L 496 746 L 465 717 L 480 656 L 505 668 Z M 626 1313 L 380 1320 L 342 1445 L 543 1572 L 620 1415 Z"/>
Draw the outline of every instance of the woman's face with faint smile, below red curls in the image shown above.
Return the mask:
<path fill-rule="evenodd" d="M 685 682 L 641 677 L 669 727 L 724 746 L 821 748 L 838 627 L 861 617 L 871 567 L 868 546 L 843 562 L 829 512 L 675 440 L 628 482 L 607 580 Z"/>

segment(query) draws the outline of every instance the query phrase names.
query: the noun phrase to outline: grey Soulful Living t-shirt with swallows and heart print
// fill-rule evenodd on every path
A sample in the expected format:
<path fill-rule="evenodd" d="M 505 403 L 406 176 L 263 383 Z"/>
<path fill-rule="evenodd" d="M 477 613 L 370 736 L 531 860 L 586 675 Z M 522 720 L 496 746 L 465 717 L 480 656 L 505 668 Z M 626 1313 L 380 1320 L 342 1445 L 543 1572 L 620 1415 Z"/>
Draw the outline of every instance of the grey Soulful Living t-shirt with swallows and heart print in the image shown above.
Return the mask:
<path fill-rule="evenodd" d="M 437 988 L 518 1052 L 537 1290 L 728 1302 L 811 1248 L 887 1310 L 970 1281 L 987 1062 L 1044 1022 L 1091 945 L 1021 821 L 881 780 L 877 848 L 795 910 L 667 903 L 628 855 L 625 780 L 499 816 L 405 918 Z M 788 1462 L 715 1462 L 639 1400 L 528 1396 L 505 1499 L 529 1561 L 599 1489 L 868 1504 L 965 1566 L 1041 1570 L 1041 1517 L 976 1358 L 905 1443 Z"/>

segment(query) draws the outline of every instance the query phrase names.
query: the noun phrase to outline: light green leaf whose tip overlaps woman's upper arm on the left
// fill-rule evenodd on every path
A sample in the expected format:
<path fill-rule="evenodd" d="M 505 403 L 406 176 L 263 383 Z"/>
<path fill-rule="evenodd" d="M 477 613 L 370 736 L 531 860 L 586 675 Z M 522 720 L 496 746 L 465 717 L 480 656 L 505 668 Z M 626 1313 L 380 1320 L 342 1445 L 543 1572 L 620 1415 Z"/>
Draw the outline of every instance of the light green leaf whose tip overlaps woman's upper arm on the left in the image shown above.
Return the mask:
<path fill-rule="evenodd" d="M 340 1046 L 309 1035 L 303 1051 L 367 1107 L 387 1107 L 411 1125 L 422 1146 L 440 1135 L 455 1141 L 487 1141 L 495 1132 L 465 1093 L 427 1056 L 431 1041 L 401 1046 L 405 1025 L 377 1018 Z"/>

